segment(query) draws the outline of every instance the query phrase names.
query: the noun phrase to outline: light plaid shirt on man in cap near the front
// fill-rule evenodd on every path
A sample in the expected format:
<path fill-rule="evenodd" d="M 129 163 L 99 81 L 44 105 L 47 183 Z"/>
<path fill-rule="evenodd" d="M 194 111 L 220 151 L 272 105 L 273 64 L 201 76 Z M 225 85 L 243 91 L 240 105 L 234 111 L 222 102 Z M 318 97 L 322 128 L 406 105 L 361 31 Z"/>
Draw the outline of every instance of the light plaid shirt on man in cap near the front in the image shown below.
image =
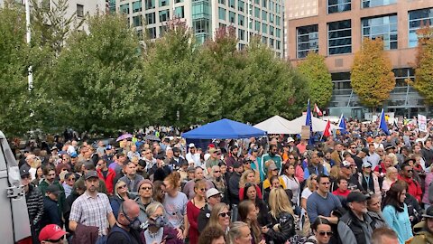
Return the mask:
<path fill-rule="evenodd" d="M 107 215 L 110 212 L 113 212 L 113 210 L 106 194 L 98 192 L 97 197 L 93 198 L 88 195 L 88 192 L 84 192 L 72 203 L 69 221 L 99 227 L 99 236 L 107 235 Z"/>

